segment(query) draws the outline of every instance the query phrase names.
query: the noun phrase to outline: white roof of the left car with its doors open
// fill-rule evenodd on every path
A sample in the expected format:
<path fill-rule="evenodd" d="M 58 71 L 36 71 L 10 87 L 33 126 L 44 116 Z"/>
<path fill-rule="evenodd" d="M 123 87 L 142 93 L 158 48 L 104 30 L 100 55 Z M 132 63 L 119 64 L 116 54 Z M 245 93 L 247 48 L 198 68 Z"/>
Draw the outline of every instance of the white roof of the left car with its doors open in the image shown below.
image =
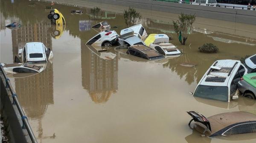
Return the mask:
<path fill-rule="evenodd" d="M 44 44 L 41 42 L 26 43 L 26 52 L 29 53 L 44 53 Z"/>

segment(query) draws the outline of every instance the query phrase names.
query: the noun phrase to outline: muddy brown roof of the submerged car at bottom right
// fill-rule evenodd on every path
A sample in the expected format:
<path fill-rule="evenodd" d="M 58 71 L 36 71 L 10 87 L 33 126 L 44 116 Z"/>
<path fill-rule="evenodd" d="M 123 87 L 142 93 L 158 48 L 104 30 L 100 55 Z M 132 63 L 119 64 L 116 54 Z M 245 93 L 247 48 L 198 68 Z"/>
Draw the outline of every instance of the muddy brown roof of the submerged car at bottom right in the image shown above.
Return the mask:
<path fill-rule="evenodd" d="M 246 121 L 256 121 L 256 115 L 249 112 L 227 112 L 207 118 L 210 122 L 212 133 L 218 132 L 227 126 Z"/>

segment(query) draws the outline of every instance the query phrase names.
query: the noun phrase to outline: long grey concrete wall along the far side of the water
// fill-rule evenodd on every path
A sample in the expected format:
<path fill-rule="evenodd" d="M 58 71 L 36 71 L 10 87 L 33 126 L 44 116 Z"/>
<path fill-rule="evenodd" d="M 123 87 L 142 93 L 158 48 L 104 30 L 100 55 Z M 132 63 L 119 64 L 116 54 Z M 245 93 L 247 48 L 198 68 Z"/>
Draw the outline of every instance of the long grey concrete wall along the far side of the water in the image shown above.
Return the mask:
<path fill-rule="evenodd" d="M 52 0 L 44 0 L 52 1 Z M 209 19 L 225 20 L 231 22 L 240 22 L 256 25 L 256 11 L 242 10 L 233 8 L 221 8 L 212 6 L 198 6 L 184 3 L 171 3 L 156 0 L 57 0 L 55 2 L 74 4 L 78 6 L 87 5 L 87 2 L 104 4 L 113 4 L 120 6 L 132 6 L 134 8 L 143 8 L 154 11 L 163 11 L 169 13 L 195 14 L 198 17 Z"/>

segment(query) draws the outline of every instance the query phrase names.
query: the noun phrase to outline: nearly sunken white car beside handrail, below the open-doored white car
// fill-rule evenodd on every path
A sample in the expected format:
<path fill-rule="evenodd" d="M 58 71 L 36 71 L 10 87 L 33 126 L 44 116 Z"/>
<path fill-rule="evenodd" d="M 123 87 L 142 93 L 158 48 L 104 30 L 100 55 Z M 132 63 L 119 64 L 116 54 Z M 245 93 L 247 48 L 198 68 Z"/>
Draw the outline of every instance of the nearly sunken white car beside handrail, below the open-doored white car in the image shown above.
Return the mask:
<path fill-rule="evenodd" d="M 36 66 L 34 64 L 1 64 L 6 73 L 40 73 L 44 68 Z"/>

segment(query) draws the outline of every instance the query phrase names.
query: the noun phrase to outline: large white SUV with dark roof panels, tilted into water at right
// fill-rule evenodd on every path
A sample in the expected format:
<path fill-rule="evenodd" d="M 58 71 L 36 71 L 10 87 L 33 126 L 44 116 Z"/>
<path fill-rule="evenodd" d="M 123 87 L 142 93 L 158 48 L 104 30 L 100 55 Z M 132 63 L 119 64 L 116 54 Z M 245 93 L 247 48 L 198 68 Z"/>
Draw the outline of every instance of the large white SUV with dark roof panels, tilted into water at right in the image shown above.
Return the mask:
<path fill-rule="evenodd" d="M 199 81 L 194 97 L 230 102 L 238 98 L 237 84 L 247 69 L 238 60 L 218 60 Z"/>

